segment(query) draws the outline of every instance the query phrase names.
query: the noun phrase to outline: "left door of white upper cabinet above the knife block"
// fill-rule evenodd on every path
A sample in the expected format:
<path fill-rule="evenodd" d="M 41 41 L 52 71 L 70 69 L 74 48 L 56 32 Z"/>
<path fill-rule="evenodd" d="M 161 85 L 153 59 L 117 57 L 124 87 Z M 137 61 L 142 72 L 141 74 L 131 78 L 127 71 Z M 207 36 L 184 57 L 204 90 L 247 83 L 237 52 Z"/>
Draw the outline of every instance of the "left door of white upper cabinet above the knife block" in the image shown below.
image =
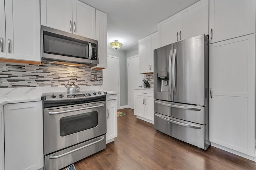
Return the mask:
<path fill-rule="evenodd" d="M 152 72 L 150 70 L 150 64 L 152 64 L 151 49 L 152 44 L 150 36 L 139 40 L 140 73 Z"/>

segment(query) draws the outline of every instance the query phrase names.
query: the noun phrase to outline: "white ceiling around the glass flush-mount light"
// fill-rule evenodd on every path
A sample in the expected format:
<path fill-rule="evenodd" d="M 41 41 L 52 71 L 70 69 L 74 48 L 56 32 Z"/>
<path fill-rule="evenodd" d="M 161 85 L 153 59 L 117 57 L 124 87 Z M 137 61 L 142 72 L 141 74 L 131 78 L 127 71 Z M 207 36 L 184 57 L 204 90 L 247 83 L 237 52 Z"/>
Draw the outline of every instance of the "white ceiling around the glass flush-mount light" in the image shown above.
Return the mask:
<path fill-rule="evenodd" d="M 158 23 L 199 0 L 80 0 L 108 14 L 108 47 L 114 40 L 128 50 L 158 29 Z"/>

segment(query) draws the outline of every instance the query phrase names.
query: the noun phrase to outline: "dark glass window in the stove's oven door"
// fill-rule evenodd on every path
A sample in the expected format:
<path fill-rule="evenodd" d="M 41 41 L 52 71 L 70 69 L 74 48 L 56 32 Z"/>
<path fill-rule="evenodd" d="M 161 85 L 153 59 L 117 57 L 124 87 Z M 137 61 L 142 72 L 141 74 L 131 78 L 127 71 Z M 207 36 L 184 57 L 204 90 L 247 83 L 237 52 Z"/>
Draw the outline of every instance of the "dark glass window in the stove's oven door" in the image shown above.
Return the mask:
<path fill-rule="evenodd" d="M 98 112 L 92 111 L 60 119 L 60 136 L 70 135 L 98 125 Z"/>

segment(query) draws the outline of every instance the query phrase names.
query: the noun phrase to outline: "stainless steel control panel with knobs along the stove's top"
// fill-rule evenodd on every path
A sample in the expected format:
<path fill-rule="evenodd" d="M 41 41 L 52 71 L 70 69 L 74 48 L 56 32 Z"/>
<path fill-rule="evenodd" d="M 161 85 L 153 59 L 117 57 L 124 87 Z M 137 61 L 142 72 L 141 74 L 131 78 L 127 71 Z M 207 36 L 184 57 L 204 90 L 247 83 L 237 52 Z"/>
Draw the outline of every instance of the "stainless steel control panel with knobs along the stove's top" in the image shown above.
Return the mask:
<path fill-rule="evenodd" d="M 54 92 L 54 93 L 44 93 L 44 100 L 70 100 L 77 98 L 92 98 L 96 96 L 104 96 L 104 92 L 100 91 L 81 91 L 81 92 Z"/>

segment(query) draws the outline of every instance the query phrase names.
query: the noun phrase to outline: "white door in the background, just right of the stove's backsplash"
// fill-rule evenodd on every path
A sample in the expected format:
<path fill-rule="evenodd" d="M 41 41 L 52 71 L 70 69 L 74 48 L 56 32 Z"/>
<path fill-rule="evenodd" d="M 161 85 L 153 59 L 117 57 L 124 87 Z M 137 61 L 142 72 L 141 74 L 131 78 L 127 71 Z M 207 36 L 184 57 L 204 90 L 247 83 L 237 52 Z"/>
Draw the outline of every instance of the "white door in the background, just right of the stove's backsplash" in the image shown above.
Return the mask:
<path fill-rule="evenodd" d="M 108 56 L 108 68 L 105 68 L 103 74 L 103 89 L 118 92 L 118 104 L 120 109 L 120 78 L 119 78 L 119 57 Z"/>

